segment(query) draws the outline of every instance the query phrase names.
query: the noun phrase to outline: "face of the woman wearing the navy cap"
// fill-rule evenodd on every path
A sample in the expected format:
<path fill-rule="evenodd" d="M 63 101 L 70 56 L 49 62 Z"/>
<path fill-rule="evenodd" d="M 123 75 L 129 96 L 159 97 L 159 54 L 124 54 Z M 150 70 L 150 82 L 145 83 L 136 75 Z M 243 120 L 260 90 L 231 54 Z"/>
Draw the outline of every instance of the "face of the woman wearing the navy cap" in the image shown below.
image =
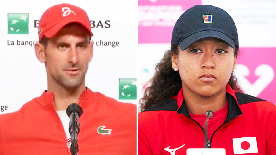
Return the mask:
<path fill-rule="evenodd" d="M 173 69 L 177 68 L 183 90 L 200 96 L 213 96 L 225 91 L 233 69 L 236 69 L 234 49 L 215 38 L 193 43 L 178 55 L 172 54 Z"/>

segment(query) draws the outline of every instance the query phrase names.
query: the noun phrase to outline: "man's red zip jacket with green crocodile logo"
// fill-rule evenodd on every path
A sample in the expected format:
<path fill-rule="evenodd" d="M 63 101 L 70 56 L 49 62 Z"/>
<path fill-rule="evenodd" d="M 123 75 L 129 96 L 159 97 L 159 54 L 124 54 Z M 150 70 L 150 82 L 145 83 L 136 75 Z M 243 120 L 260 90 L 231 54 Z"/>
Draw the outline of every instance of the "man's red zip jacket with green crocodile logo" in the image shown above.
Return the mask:
<path fill-rule="evenodd" d="M 136 154 L 135 104 L 118 102 L 87 88 L 79 105 L 83 109 L 79 155 Z M 71 154 L 53 93 L 45 91 L 19 111 L 0 115 L 0 155 L 17 154 Z"/>

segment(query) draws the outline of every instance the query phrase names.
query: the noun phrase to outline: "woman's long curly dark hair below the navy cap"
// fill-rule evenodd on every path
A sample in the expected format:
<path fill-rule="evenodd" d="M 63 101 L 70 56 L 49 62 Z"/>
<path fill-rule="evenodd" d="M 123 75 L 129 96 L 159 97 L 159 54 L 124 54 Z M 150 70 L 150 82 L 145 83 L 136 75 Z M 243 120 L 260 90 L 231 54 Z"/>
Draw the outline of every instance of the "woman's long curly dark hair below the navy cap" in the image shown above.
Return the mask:
<path fill-rule="evenodd" d="M 155 67 L 155 74 L 148 83 L 150 86 L 145 89 L 144 96 L 139 100 L 140 111 L 144 111 L 153 105 L 160 104 L 172 96 L 178 94 L 182 88 L 182 81 L 178 71 L 174 71 L 172 67 L 171 55 L 178 54 L 178 44 L 172 45 L 170 50 L 167 50 L 160 63 Z M 234 55 L 237 56 L 239 48 L 236 46 Z M 237 78 L 231 74 L 228 81 L 229 86 L 233 90 L 243 92 L 237 84 Z"/>

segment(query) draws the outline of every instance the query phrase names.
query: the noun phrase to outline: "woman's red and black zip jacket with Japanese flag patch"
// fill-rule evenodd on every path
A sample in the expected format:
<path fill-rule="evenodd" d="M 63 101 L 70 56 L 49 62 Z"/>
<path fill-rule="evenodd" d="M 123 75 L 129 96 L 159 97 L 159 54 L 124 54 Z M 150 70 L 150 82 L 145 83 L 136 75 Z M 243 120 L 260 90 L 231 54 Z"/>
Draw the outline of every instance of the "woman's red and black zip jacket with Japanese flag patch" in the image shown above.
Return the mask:
<path fill-rule="evenodd" d="M 227 84 L 228 113 L 208 141 L 193 119 L 182 90 L 174 98 L 138 115 L 138 154 L 185 155 L 187 148 L 225 148 L 227 155 L 276 155 L 276 106 L 231 89 Z"/>

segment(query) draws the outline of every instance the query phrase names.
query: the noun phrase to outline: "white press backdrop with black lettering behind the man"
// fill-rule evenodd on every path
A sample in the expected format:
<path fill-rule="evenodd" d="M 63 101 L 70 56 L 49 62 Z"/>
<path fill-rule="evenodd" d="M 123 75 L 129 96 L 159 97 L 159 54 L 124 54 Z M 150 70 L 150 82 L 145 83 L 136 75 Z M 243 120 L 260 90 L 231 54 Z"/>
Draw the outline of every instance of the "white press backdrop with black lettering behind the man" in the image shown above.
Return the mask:
<path fill-rule="evenodd" d="M 119 46 L 97 46 L 89 63 L 86 86 L 118 100 L 119 78 L 136 78 L 137 1 L 1 1 L 0 2 L 0 107 L 8 106 L 2 113 L 17 111 L 24 103 L 40 96 L 47 89 L 45 66 L 34 53 L 34 46 L 18 46 L 20 41 L 37 41 L 38 29 L 34 20 L 43 12 L 60 3 L 70 3 L 84 9 L 90 20 L 109 21 L 110 28 L 92 28 L 92 40 L 118 41 Z M 124 5 L 122 5 L 122 3 Z M 29 13 L 29 34 L 8 34 L 8 13 Z M 15 45 L 8 45 L 8 40 Z M 120 100 L 136 104 L 136 100 Z"/>

